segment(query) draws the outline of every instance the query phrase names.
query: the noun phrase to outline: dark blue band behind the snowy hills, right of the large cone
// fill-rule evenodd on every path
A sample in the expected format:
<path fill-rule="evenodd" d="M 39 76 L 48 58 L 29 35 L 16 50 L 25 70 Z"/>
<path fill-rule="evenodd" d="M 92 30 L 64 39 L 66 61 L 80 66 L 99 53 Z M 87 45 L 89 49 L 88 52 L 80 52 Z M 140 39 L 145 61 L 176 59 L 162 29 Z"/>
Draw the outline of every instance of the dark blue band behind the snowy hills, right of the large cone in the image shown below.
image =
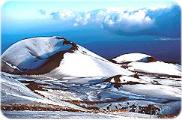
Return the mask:
<path fill-rule="evenodd" d="M 154 56 L 158 60 L 181 64 L 180 40 L 107 41 L 82 46 L 107 59 L 126 53 L 140 52 Z"/>

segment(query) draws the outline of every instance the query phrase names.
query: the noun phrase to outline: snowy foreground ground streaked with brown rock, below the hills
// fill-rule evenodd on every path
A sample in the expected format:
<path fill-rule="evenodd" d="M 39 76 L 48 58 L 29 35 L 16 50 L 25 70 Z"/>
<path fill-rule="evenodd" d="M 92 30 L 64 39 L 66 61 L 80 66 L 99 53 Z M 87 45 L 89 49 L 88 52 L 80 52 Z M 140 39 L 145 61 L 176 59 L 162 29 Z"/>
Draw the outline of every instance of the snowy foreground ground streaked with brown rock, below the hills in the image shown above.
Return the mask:
<path fill-rule="evenodd" d="M 116 77 L 52 80 L 47 79 L 47 77 L 40 79 L 35 76 L 17 76 L 7 73 L 2 73 L 2 78 L 2 106 L 5 109 L 3 113 L 10 118 L 13 116 L 26 118 L 27 114 L 33 112 L 41 114 L 43 108 L 39 108 L 38 105 L 39 109 L 35 109 L 36 103 L 42 104 L 46 109 L 56 109 L 50 105 L 58 105 L 61 108 L 68 107 L 69 109 L 80 110 L 83 112 L 82 115 L 90 114 L 89 118 L 95 118 L 94 116 L 98 115 L 95 112 L 102 113 L 104 118 L 113 117 L 113 115 L 113 118 L 125 116 L 158 118 L 167 115 L 176 116 L 180 111 L 182 90 L 179 86 L 181 84 L 180 79 L 176 78 L 175 80 L 151 76 L 139 76 L 139 78 L 121 76 L 118 82 L 113 79 Z M 165 82 L 156 84 L 156 81 L 162 80 Z M 26 109 L 20 107 L 19 110 L 16 110 L 17 107 L 9 109 L 6 107 L 7 105 L 28 107 Z M 13 109 L 15 110 L 11 111 Z M 24 110 L 27 113 L 20 115 L 19 113 Z M 71 114 L 68 118 L 80 113 L 63 110 L 59 111 L 55 118 L 66 115 L 65 111 Z M 52 118 L 49 110 L 45 113 L 47 114 L 32 117 L 45 118 L 47 116 L 47 118 Z"/>

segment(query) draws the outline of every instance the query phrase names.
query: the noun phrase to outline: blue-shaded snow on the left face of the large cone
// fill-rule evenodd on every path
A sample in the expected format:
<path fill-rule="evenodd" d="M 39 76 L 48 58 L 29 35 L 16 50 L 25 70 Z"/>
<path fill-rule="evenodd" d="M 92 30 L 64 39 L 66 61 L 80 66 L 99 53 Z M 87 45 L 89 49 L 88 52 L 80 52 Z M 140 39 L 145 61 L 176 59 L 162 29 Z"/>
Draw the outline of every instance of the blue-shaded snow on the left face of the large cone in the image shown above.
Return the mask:
<path fill-rule="evenodd" d="M 63 45 L 63 39 L 57 37 L 30 38 L 9 47 L 2 54 L 2 60 L 20 70 L 35 69 L 45 63 L 51 55 L 70 47 Z"/>

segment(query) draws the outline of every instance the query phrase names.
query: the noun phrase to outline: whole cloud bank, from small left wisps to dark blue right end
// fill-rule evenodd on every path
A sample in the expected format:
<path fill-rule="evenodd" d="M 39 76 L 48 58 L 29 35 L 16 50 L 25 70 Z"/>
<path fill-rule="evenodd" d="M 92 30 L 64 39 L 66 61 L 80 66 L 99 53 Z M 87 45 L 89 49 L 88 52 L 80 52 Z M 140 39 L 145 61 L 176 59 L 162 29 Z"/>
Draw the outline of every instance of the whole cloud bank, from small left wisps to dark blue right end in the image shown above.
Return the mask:
<path fill-rule="evenodd" d="M 155 35 L 180 37 L 180 7 L 173 5 L 158 9 L 99 9 L 86 12 L 60 10 L 47 13 L 52 19 L 69 22 L 72 27 L 96 25 L 118 35 Z"/>

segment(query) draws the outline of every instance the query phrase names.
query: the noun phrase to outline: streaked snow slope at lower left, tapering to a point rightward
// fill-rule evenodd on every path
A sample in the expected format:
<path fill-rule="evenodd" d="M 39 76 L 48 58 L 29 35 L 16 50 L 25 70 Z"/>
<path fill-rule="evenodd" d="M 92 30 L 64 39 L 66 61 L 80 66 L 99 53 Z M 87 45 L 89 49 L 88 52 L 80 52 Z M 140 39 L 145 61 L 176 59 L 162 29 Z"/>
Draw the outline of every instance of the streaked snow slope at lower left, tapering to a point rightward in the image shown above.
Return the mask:
<path fill-rule="evenodd" d="M 53 104 L 64 107 L 70 107 L 79 110 L 85 110 L 74 104 L 65 102 L 65 101 L 54 101 L 53 99 L 47 99 L 38 94 L 35 94 L 24 84 L 18 80 L 1 75 L 1 103 L 2 104 L 12 104 L 12 103 L 44 103 L 44 104 Z"/>

